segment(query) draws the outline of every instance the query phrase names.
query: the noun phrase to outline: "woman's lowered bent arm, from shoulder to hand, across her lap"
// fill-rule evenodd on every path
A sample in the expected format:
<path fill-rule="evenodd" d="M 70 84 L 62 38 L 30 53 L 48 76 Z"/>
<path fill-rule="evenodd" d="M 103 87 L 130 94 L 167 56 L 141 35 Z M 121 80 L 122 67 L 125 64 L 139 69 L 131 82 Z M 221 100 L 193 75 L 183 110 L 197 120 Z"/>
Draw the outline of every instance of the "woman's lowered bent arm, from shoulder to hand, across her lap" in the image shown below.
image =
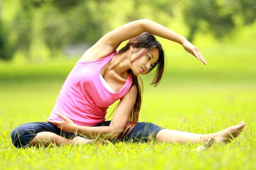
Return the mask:
<path fill-rule="evenodd" d="M 61 117 L 63 121 L 47 121 L 66 132 L 77 133 L 90 138 L 99 137 L 103 139 L 112 139 L 113 137 L 119 137 L 124 131 L 135 104 L 136 96 L 137 88 L 132 86 L 129 92 L 121 99 L 109 126 L 79 126 L 60 113 L 57 113 L 57 115 Z"/>

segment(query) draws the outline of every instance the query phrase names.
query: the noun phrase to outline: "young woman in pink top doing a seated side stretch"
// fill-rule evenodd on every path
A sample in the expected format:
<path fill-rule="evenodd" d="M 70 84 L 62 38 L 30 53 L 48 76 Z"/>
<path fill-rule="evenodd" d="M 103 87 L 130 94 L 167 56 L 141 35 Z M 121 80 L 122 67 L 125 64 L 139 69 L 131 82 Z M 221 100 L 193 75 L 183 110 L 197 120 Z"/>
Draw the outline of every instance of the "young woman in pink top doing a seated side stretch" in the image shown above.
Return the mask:
<path fill-rule="evenodd" d="M 137 122 L 141 106 L 137 76 L 156 68 L 152 84 L 157 86 L 164 71 L 164 51 L 154 35 L 181 44 L 207 64 L 198 48 L 160 24 L 147 19 L 125 24 L 83 54 L 63 84 L 47 122 L 23 124 L 11 132 L 14 146 L 87 144 L 94 139 L 195 143 L 214 138 L 216 142 L 229 142 L 237 137 L 245 126 L 243 121 L 206 135 Z M 125 40 L 129 40 L 126 46 L 117 51 Z M 112 120 L 106 121 L 108 106 L 119 99 Z"/>

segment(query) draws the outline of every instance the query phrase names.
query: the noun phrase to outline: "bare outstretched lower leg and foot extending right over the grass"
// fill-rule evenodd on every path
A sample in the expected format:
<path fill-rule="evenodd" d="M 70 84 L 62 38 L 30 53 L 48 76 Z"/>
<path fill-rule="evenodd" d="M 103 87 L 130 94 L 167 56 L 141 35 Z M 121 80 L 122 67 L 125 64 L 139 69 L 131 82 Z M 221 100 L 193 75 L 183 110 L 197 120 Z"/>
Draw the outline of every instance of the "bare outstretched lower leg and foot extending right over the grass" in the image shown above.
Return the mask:
<path fill-rule="evenodd" d="M 190 132 L 182 132 L 177 130 L 160 130 L 156 135 L 156 140 L 158 142 L 168 142 L 168 143 L 185 143 L 185 142 L 207 142 L 209 138 L 214 138 L 216 143 L 219 142 L 229 142 L 229 139 L 234 139 L 238 137 L 240 132 L 242 132 L 245 127 L 244 121 L 241 121 L 236 126 L 231 126 L 224 130 L 221 130 L 216 133 L 201 135 Z"/>

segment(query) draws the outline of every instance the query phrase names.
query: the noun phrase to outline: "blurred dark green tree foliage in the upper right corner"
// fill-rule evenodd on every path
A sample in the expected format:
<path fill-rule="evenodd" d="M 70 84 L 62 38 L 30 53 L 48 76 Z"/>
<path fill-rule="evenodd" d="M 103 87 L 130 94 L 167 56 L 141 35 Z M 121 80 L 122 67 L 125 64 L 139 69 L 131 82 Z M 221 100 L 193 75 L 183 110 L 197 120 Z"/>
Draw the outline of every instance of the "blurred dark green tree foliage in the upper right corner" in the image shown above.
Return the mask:
<path fill-rule="evenodd" d="M 252 24 L 256 19 L 255 0 L 186 1 L 182 10 L 190 30 L 187 38 L 191 42 L 197 31 L 210 32 L 222 39 L 233 33 L 237 18 L 243 20 L 242 24 Z"/>

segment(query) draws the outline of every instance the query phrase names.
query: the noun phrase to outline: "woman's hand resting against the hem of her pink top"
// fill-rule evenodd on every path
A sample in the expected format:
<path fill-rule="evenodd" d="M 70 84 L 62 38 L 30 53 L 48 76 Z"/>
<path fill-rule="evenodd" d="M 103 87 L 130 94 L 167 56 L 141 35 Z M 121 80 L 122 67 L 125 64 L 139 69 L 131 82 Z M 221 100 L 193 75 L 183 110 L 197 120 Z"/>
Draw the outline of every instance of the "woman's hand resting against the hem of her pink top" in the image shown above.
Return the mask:
<path fill-rule="evenodd" d="M 61 119 L 63 119 L 63 121 L 54 121 L 54 120 L 49 120 L 47 119 L 48 122 L 54 124 L 55 126 L 57 126 L 58 128 L 60 128 L 61 130 L 65 131 L 65 132 L 72 132 L 74 133 L 75 129 L 76 129 L 76 124 L 74 124 L 74 122 L 62 115 L 61 113 L 56 113 L 59 117 L 61 117 Z"/>

